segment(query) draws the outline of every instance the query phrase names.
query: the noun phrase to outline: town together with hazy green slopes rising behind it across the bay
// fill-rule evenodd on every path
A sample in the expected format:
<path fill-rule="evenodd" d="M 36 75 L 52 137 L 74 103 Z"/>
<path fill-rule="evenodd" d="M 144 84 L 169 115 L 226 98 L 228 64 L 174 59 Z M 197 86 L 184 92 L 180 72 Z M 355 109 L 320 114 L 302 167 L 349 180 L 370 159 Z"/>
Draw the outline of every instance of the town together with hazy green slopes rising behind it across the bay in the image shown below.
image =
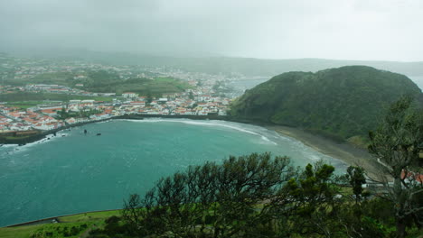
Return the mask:
<path fill-rule="evenodd" d="M 176 78 L 187 87 L 181 92 L 155 96 L 139 95 L 130 90 L 118 94 L 116 91 L 90 91 L 89 87 L 84 87 L 83 82 L 89 78 L 90 73 L 99 71 L 114 75 L 122 81 L 129 78 L 152 81 L 161 77 Z M 2 102 L 0 99 L 0 133 L 10 135 L 49 131 L 126 114 L 226 115 L 230 100 L 235 97 L 233 90 L 228 90 L 228 83 L 236 78 L 240 78 L 240 75 L 212 75 L 164 66 L 14 58 L 0 53 L 0 96 L 5 100 Z M 58 98 L 66 99 L 22 100 L 24 103 L 30 101 L 30 105 L 24 106 L 15 105 L 14 100 L 10 100 L 13 95 L 24 98 L 25 95 L 34 94 L 59 95 Z"/>

